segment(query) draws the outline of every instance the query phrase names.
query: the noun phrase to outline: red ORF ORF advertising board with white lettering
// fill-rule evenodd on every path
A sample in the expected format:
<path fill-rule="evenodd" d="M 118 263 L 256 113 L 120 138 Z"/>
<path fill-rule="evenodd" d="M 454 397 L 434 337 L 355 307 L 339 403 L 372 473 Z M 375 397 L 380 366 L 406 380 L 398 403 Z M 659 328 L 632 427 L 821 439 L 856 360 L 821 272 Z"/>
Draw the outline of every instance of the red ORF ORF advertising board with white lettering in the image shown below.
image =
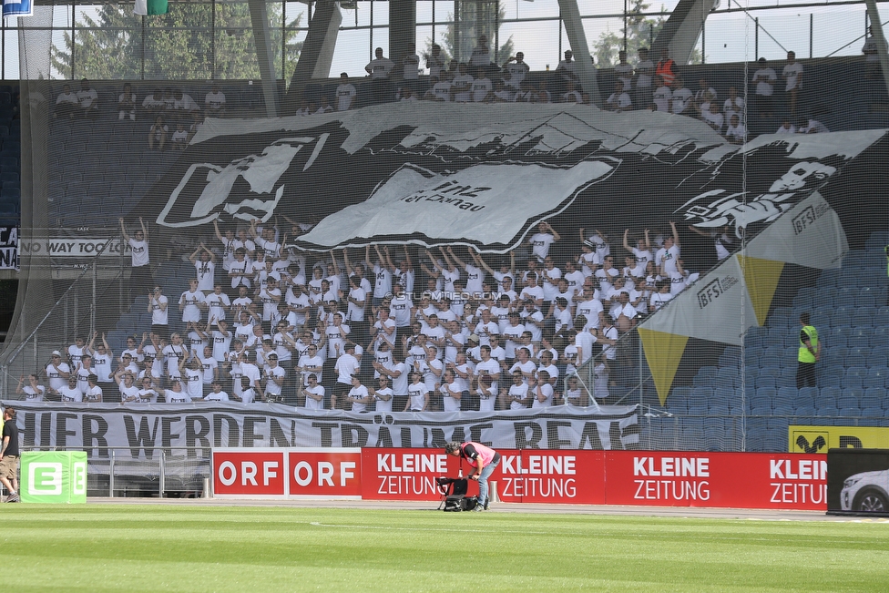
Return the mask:
<path fill-rule="evenodd" d="M 213 496 L 360 498 L 361 449 L 214 449 Z"/>

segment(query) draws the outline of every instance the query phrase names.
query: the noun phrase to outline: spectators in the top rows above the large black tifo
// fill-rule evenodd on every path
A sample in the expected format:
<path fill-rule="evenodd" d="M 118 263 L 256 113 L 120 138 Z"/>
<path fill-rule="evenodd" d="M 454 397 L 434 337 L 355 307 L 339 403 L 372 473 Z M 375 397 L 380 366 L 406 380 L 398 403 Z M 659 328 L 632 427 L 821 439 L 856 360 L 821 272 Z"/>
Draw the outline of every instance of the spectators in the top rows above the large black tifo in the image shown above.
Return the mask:
<path fill-rule="evenodd" d="M 875 56 L 871 40 L 872 37 L 868 37 L 863 49 L 868 59 Z M 421 79 L 423 61 L 428 77 Z M 431 46 L 431 52 L 421 59 L 412 44 L 400 64 L 383 56 L 383 48 L 378 47 L 375 57 L 364 70 L 369 77 L 372 97 L 359 101 L 359 90 L 353 84 L 353 78 L 343 72 L 341 84 L 331 96 L 307 93 L 297 115 L 312 116 L 391 101 L 592 103 L 588 90 L 583 88 L 577 75 L 577 62 L 571 50 L 565 52 L 555 73 L 541 77 L 532 75 L 531 66 L 522 52 L 509 56 L 503 64 L 495 64 L 485 36 L 479 36 L 475 50 L 466 62 L 446 62 L 437 45 Z M 626 51 L 620 51 L 618 64 L 613 69 L 613 92 L 611 87 L 601 91 L 603 107 L 617 112 L 648 109 L 699 118 L 734 143 L 743 143 L 748 138 L 748 112 L 761 118 L 774 118 L 776 113 L 781 113 L 777 133 L 828 131 L 804 108 L 805 73 L 794 52 L 788 52 L 783 64 L 771 64 L 761 57 L 751 70 L 749 83 L 753 105 L 748 111 L 741 80 L 736 85 L 717 89 L 707 78 L 700 77 L 697 87 L 692 88 L 667 50 L 658 62 L 654 62 L 649 58 L 649 50 L 640 48 L 635 64 L 628 62 Z M 606 80 L 607 77 L 599 77 L 599 86 Z M 97 90 L 84 79 L 77 92 L 69 85 L 62 88 L 56 97 L 54 115 L 56 118 L 95 118 L 99 105 Z M 121 120 L 148 118 L 154 122 L 148 131 L 148 148 L 181 149 L 197 133 L 205 117 L 225 116 L 226 97 L 215 84 L 210 87 L 202 105 L 179 88 L 158 87 L 147 97 L 138 97 L 132 87 L 125 84 L 118 95 L 117 110 Z"/>

